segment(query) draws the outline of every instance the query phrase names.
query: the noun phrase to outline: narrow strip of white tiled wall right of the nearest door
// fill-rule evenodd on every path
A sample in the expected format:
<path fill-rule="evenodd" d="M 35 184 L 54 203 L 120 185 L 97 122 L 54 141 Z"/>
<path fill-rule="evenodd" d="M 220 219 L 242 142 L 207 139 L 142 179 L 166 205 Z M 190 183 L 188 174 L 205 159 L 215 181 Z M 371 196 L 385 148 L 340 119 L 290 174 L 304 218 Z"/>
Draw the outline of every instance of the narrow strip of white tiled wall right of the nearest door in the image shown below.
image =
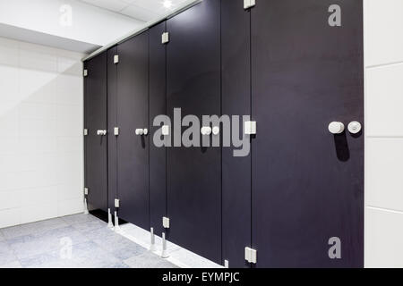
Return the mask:
<path fill-rule="evenodd" d="M 403 267 L 402 11 L 364 0 L 366 267 Z"/>

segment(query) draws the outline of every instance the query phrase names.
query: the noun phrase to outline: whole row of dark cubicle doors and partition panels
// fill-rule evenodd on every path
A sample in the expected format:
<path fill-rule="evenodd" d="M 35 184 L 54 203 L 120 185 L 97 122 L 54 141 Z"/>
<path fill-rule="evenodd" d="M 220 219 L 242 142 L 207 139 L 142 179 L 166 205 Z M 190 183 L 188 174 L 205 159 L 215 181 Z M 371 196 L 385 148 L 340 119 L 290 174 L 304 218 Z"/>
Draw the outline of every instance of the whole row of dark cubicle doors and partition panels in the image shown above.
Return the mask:
<path fill-rule="evenodd" d="M 87 61 L 90 206 L 230 267 L 362 267 L 364 139 L 327 129 L 364 119 L 362 1 L 336 2 L 204 0 Z M 251 153 L 156 147 L 174 108 L 251 115 Z"/>

